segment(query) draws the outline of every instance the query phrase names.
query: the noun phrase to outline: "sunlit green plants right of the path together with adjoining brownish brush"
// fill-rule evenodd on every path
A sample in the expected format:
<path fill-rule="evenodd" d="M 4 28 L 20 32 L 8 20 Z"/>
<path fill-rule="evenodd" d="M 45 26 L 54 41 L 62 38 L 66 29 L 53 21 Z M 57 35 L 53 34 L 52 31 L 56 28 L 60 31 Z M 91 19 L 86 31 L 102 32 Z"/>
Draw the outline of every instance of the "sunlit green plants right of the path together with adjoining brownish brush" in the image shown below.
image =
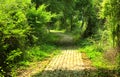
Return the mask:
<path fill-rule="evenodd" d="M 109 57 L 110 54 L 114 55 L 115 52 L 111 53 L 110 51 L 109 52 L 105 51 L 105 49 L 102 48 L 99 45 L 99 43 L 96 43 L 93 40 L 91 41 L 90 39 L 85 39 L 84 41 L 82 40 L 81 42 L 83 43 L 79 51 L 87 54 L 88 58 L 91 59 L 92 65 L 94 67 L 107 69 L 114 69 L 116 67 L 116 64 L 113 63 L 114 60 L 112 60 L 114 56 Z"/>

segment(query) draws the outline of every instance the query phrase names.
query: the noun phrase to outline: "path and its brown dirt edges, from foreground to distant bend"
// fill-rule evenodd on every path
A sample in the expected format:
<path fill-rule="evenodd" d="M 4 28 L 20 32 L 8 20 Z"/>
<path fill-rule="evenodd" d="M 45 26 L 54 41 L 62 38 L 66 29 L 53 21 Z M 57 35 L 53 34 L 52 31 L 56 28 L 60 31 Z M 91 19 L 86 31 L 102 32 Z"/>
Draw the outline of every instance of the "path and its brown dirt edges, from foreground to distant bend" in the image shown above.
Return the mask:
<path fill-rule="evenodd" d="M 32 67 L 18 77 L 90 77 L 85 71 L 90 72 L 95 68 L 85 53 L 78 52 L 79 47 L 73 44 L 72 35 L 60 32 L 56 34 L 60 36 L 57 43 L 61 53 L 31 65 Z"/>

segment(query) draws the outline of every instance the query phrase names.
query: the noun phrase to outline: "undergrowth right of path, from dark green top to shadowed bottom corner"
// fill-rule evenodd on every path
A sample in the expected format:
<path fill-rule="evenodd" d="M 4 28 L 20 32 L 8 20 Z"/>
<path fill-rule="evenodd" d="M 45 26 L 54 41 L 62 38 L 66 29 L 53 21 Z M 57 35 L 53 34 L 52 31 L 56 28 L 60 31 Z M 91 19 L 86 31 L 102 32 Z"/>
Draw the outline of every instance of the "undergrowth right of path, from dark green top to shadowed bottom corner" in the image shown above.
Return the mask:
<path fill-rule="evenodd" d="M 114 59 L 115 51 L 108 51 L 99 41 L 93 39 L 84 39 L 79 41 L 81 53 L 86 53 L 92 62 L 92 66 L 96 68 L 96 74 L 99 77 L 118 77 L 118 68 Z M 111 53 L 112 52 L 112 53 Z M 112 54 L 112 55 L 111 55 Z M 107 58 L 108 60 L 107 60 Z M 115 62 L 113 62 L 112 61 Z"/>

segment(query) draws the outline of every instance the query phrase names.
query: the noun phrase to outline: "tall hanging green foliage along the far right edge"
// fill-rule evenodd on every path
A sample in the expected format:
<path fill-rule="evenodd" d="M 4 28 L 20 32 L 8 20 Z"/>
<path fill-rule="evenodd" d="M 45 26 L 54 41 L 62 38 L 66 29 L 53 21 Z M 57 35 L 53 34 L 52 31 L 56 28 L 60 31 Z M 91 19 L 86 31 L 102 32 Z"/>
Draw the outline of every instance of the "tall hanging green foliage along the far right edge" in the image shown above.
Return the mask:
<path fill-rule="evenodd" d="M 106 20 L 108 30 L 111 32 L 113 46 L 120 53 L 120 0 L 104 0 L 101 17 Z M 120 54 L 118 54 L 120 56 Z M 118 57 L 118 72 L 120 73 L 120 57 Z"/>

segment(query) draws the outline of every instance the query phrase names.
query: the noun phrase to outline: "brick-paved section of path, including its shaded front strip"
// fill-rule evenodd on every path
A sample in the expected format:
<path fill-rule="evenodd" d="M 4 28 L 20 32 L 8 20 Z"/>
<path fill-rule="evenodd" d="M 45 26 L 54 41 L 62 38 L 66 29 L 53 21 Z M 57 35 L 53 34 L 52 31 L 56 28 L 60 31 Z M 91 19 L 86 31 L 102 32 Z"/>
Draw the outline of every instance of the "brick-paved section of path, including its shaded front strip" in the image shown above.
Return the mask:
<path fill-rule="evenodd" d="M 83 69 L 81 53 L 75 49 L 65 49 L 51 60 L 39 77 L 81 77 L 79 71 Z"/>

